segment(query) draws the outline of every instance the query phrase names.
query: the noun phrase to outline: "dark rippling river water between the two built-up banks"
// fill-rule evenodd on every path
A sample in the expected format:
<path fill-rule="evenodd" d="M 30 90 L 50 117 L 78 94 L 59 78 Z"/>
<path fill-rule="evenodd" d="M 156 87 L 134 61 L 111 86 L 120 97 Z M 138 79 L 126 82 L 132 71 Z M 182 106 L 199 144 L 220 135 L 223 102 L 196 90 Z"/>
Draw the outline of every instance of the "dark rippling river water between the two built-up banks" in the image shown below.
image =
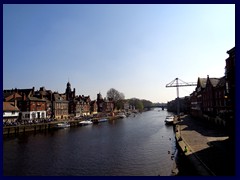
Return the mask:
<path fill-rule="evenodd" d="M 170 176 L 176 154 L 167 111 L 3 140 L 4 176 Z"/>

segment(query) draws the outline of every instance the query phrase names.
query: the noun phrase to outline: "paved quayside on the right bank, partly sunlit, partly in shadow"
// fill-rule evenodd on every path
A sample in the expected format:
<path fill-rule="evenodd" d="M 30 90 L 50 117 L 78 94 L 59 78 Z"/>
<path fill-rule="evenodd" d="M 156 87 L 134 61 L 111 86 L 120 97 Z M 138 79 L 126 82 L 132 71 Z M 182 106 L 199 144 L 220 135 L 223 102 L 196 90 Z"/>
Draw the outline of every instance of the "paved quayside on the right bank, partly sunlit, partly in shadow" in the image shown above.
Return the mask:
<path fill-rule="evenodd" d="M 181 151 L 201 176 L 234 176 L 235 143 L 224 128 L 189 115 L 175 120 Z"/>

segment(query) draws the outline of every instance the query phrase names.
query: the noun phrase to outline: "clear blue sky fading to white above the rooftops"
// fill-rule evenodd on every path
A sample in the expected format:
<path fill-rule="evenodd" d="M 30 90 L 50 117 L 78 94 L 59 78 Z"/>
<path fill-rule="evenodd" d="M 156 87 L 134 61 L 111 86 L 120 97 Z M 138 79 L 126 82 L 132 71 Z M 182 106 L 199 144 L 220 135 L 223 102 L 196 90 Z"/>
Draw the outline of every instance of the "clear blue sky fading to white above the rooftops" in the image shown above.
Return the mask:
<path fill-rule="evenodd" d="M 224 76 L 235 5 L 3 5 L 3 89 L 167 102 L 180 78 Z M 180 97 L 195 87 L 181 87 Z"/>

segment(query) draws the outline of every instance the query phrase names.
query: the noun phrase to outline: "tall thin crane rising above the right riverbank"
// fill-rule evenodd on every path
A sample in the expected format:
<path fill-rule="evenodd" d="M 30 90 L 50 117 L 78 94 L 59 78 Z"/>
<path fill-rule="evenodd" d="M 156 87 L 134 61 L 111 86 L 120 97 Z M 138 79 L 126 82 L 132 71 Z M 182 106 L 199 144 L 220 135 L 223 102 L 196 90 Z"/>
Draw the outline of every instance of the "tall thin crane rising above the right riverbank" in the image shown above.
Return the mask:
<path fill-rule="evenodd" d="M 180 81 L 180 82 L 179 82 Z M 173 81 L 171 81 L 170 83 L 168 83 L 166 85 L 166 87 L 177 87 L 177 115 L 179 115 L 179 110 L 180 110 L 180 104 L 179 104 L 179 87 L 183 87 L 183 86 L 196 86 L 197 83 L 194 82 L 184 82 L 179 78 L 175 78 Z"/>

